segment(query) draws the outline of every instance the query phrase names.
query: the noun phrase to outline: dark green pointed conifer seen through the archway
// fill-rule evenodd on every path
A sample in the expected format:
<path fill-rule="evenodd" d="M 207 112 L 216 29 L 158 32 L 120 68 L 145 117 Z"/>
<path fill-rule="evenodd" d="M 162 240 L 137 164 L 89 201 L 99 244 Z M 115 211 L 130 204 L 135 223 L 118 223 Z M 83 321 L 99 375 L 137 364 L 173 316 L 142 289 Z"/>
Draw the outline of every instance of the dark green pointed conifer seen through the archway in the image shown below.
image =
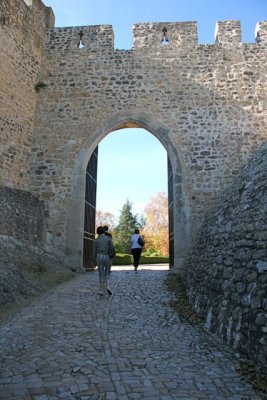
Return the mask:
<path fill-rule="evenodd" d="M 130 237 L 136 228 L 139 228 L 137 216 L 133 215 L 132 203 L 127 199 L 120 213 L 119 224 L 114 230 L 114 244 L 118 252 L 130 253 Z"/>

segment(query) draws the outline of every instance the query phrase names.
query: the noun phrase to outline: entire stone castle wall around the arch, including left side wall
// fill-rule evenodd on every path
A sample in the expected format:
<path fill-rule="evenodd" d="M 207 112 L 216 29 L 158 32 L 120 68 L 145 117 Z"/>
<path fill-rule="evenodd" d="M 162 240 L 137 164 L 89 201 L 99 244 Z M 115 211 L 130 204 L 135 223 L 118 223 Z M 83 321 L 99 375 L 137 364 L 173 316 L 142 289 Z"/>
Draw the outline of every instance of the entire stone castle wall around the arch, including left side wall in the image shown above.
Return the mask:
<path fill-rule="evenodd" d="M 79 268 L 87 163 L 109 132 L 138 126 L 173 169 L 181 268 L 221 193 L 266 142 L 267 21 L 254 43 L 242 43 L 239 21 L 218 21 L 213 44 L 198 43 L 196 22 L 135 24 L 132 49 L 117 50 L 112 26 L 55 28 L 41 0 L 2 0 L 0 11 L 0 233 L 20 239 L 23 225 L 30 243 Z"/>

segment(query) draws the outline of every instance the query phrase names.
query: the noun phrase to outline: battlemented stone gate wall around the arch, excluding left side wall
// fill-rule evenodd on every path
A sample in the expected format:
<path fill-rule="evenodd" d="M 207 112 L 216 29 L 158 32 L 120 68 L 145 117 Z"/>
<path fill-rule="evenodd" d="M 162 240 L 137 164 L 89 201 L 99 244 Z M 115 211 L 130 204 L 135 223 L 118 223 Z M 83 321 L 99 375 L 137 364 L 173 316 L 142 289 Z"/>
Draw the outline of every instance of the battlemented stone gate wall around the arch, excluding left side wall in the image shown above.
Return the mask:
<path fill-rule="evenodd" d="M 113 129 L 144 127 L 174 154 L 176 220 L 185 220 L 180 238 L 194 233 L 266 140 L 266 22 L 255 43 L 241 42 L 238 21 L 218 22 L 212 45 L 198 45 L 195 22 L 136 24 L 133 32 L 127 51 L 114 50 L 109 25 L 54 28 L 46 36 L 31 191 L 50 204 L 49 229 L 59 248 L 68 215 L 75 214 L 71 226 L 77 216 L 69 205 L 82 197 L 75 189 L 79 155 L 85 154 L 82 180 L 93 147 Z"/>

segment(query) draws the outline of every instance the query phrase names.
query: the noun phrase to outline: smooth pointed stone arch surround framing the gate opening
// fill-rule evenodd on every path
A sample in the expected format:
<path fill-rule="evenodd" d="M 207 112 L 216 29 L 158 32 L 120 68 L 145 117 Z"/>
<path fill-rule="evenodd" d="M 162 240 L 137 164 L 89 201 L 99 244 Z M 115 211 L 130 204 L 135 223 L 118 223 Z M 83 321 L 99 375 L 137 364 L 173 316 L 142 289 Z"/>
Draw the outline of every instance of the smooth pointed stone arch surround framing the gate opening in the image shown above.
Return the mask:
<path fill-rule="evenodd" d="M 65 263 L 71 265 L 81 265 L 83 255 L 83 235 L 84 235 L 84 193 L 85 193 L 85 173 L 88 162 L 100 141 L 110 132 L 123 128 L 144 128 L 152 133 L 164 146 L 168 154 L 168 160 L 172 170 L 173 192 L 173 240 L 174 246 L 173 264 L 181 267 L 186 254 L 189 240 L 189 206 L 186 202 L 186 195 L 183 191 L 182 165 L 179 156 L 170 145 L 168 138 L 169 130 L 162 124 L 151 120 L 147 115 L 133 116 L 118 115 L 113 116 L 103 127 L 94 133 L 95 140 L 89 138 L 84 143 L 76 158 L 74 166 L 74 185 L 71 201 L 68 206 L 67 225 L 66 225 L 66 255 Z M 167 160 L 166 160 L 167 161 Z M 166 177 L 167 179 L 167 177 Z"/>

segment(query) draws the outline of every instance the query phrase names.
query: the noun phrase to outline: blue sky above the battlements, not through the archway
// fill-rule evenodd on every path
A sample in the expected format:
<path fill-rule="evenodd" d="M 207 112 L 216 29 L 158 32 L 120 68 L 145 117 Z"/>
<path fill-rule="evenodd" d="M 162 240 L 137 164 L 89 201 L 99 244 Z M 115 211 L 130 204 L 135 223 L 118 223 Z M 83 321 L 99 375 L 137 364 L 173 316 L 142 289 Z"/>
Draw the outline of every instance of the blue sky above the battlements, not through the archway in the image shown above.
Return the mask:
<path fill-rule="evenodd" d="M 44 0 L 54 10 L 56 26 L 110 24 L 115 48 L 132 46 L 138 22 L 198 22 L 199 43 L 214 43 L 216 21 L 240 20 L 243 42 L 254 41 L 255 25 L 267 20 L 266 0 Z"/>

